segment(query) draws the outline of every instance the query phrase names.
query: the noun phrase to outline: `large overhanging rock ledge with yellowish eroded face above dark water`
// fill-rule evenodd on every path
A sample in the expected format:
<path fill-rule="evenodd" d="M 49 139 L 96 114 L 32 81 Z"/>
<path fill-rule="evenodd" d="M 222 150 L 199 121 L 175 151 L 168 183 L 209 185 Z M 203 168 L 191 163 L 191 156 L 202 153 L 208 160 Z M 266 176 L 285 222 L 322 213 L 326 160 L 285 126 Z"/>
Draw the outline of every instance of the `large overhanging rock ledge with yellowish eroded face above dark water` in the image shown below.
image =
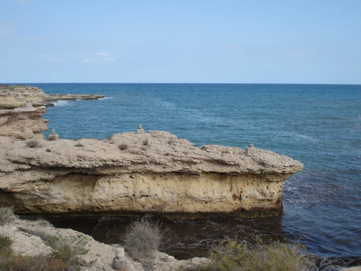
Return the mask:
<path fill-rule="evenodd" d="M 283 182 L 303 167 L 274 152 L 198 148 L 161 131 L 37 140 L 41 147 L 29 148 L 0 136 L 0 205 L 17 213 L 278 214 Z"/>

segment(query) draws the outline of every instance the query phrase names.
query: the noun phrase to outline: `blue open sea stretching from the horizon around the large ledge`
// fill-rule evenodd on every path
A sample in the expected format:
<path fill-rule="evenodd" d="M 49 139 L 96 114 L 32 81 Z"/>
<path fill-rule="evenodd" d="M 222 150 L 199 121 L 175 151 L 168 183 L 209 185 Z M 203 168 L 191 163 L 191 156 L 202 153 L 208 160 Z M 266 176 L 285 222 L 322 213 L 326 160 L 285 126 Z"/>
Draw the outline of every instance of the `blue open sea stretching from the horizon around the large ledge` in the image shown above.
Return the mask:
<path fill-rule="evenodd" d="M 284 215 L 264 224 L 318 255 L 361 256 L 361 85 L 29 85 L 106 96 L 49 107 L 48 128 L 62 138 L 104 139 L 142 124 L 196 146 L 253 143 L 301 161 L 283 188 Z"/>

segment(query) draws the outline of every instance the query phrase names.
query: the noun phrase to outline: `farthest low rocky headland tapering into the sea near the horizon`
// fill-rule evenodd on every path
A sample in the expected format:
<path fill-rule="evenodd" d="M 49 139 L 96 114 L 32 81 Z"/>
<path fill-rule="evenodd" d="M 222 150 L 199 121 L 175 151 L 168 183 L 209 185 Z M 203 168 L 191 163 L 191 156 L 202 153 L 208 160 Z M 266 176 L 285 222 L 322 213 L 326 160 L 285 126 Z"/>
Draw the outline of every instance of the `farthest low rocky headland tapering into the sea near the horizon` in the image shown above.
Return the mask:
<path fill-rule="evenodd" d="M 42 89 L 29 86 L 8 87 L 11 89 L 0 88 L 0 110 L 14 109 L 24 106 L 26 102 L 32 102 L 34 106 L 54 105 L 48 101 L 58 100 L 96 100 L 103 98 L 104 95 L 92 94 L 74 94 L 74 95 L 48 95 Z"/>

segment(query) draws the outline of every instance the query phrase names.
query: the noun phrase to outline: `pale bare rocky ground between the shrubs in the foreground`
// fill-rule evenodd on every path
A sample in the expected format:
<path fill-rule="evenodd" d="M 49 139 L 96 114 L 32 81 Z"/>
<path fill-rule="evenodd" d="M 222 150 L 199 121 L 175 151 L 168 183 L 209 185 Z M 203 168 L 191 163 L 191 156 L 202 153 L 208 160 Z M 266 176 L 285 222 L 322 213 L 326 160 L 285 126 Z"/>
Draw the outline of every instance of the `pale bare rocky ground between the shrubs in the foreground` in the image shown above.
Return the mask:
<path fill-rule="evenodd" d="M 81 234 L 72 229 L 55 228 L 53 226 L 39 226 L 36 222 L 16 219 L 11 225 L 0 226 L 0 233 L 12 237 L 14 243 L 12 249 L 21 251 L 25 255 L 36 256 L 41 253 L 49 253 L 52 248 L 48 247 L 40 237 L 31 234 L 31 232 L 44 232 L 47 235 L 60 234 L 62 236 L 78 236 Z M 86 268 L 85 271 L 100 271 L 103 267 L 110 265 L 113 261 L 115 251 L 119 245 L 106 245 L 95 241 L 92 237 L 88 237 L 88 244 L 86 248 L 89 252 L 85 255 L 80 255 L 83 263 L 89 264 L 93 262 L 94 265 Z M 177 270 L 181 265 L 197 264 L 208 261 L 206 258 L 192 258 L 188 261 L 176 260 L 174 257 L 163 252 L 155 252 L 154 256 L 149 259 L 148 263 L 141 263 L 131 259 L 126 254 L 127 271 L 169 271 Z"/>

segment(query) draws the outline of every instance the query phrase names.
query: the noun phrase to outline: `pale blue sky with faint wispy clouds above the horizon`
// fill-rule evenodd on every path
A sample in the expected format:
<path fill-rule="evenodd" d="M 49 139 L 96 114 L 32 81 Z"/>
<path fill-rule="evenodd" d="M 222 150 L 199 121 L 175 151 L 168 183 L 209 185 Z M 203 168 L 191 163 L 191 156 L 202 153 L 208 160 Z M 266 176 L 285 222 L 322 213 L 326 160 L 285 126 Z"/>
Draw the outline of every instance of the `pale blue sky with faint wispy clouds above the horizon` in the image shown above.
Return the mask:
<path fill-rule="evenodd" d="M 361 84 L 361 0 L 0 0 L 0 83 Z"/>

